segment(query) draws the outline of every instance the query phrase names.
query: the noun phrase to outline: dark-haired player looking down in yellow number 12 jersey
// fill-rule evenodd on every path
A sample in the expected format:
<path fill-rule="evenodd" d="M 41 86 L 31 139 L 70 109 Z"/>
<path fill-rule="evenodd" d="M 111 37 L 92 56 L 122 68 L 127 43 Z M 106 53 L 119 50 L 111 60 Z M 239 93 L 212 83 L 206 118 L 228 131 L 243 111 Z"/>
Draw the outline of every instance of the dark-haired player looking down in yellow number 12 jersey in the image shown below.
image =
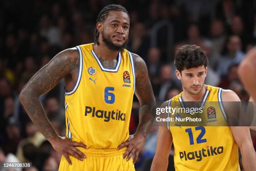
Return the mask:
<path fill-rule="evenodd" d="M 204 84 L 208 59 L 197 45 L 184 45 L 179 48 L 174 63 L 183 92 L 164 102 L 162 107 L 174 108 L 175 103 L 179 108 L 186 108 L 186 102 L 202 101 L 202 121 L 206 117 L 208 120 L 220 122 L 217 125 L 223 126 L 197 125 L 198 123 L 195 126 L 160 126 L 151 171 L 166 171 L 172 143 L 176 171 L 240 171 L 238 147 L 243 168 L 246 171 L 255 171 L 256 153 L 249 128 L 226 126 L 230 110 L 222 102 L 239 102 L 236 93 Z M 184 114 L 173 113 L 174 116 Z"/>

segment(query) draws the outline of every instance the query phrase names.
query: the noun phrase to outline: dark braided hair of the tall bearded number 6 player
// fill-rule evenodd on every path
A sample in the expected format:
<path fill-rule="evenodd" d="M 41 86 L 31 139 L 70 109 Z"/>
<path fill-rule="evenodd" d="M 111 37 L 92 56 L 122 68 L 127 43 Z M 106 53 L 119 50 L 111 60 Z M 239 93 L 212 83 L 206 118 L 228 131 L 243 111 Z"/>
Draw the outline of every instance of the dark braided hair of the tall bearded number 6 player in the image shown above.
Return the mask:
<path fill-rule="evenodd" d="M 129 13 L 128 11 L 122 6 L 122 5 L 117 5 L 117 4 L 111 4 L 111 5 L 107 5 L 105 6 L 99 13 L 99 15 L 97 16 L 97 20 L 96 23 L 98 22 L 102 22 L 105 21 L 106 18 L 108 18 L 108 13 L 111 11 L 123 11 L 124 13 L 126 13 L 130 19 Z M 97 27 L 95 27 L 95 32 L 94 32 L 94 43 L 97 43 L 97 45 L 99 45 L 99 31 L 97 29 Z"/>

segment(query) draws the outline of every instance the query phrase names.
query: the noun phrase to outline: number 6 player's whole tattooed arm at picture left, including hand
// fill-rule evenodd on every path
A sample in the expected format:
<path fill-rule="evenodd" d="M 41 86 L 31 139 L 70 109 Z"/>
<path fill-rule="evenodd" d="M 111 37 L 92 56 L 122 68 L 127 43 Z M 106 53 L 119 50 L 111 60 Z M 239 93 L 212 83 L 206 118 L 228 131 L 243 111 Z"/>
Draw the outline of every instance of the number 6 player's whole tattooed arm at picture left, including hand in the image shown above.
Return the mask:
<path fill-rule="evenodd" d="M 46 117 L 39 96 L 50 91 L 62 78 L 70 85 L 72 77 L 77 77 L 79 68 L 78 52 L 75 48 L 58 53 L 47 65 L 41 68 L 24 86 L 20 92 L 20 101 L 28 116 L 37 126 L 39 131 L 48 139 L 54 149 L 62 153 L 71 164 L 68 154 L 82 160 L 84 154 L 74 146 L 86 148 L 82 143 L 69 141 L 60 137 Z M 68 80 L 68 81 L 67 81 Z M 72 84 L 72 83 L 71 83 Z"/>

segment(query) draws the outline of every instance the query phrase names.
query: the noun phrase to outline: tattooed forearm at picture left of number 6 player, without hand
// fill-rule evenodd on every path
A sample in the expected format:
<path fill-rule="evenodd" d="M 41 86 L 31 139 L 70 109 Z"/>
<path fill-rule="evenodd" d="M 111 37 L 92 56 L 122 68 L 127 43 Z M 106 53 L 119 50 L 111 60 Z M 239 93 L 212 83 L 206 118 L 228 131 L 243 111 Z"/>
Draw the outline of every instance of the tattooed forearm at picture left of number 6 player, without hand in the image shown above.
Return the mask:
<path fill-rule="evenodd" d="M 49 119 L 46 117 L 39 96 L 31 91 L 23 90 L 20 93 L 20 101 L 28 113 L 28 116 L 45 138 L 50 141 L 51 138 L 58 136 Z"/>

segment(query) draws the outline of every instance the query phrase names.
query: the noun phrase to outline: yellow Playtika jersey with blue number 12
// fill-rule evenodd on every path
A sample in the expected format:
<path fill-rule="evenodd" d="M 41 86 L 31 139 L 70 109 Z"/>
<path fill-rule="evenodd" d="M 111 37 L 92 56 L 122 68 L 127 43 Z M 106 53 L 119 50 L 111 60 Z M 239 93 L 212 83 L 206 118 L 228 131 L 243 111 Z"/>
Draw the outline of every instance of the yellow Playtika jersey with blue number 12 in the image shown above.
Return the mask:
<path fill-rule="evenodd" d="M 201 122 L 194 122 L 192 126 L 182 126 L 182 122 L 168 123 L 173 138 L 176 171 L 240 171 L 238 145 L 230 127 L 213 126 L 216 122 L 220 122 L 218 125 L 227 125 L 221 94 L 221 88 L 207 85 L 200 106 Z M 182 93 L 169 100 L 169 106 L 186 108 Z M 188 114 L 168 113 L 171 118 L 184 118 L 186 115 Z"/>

